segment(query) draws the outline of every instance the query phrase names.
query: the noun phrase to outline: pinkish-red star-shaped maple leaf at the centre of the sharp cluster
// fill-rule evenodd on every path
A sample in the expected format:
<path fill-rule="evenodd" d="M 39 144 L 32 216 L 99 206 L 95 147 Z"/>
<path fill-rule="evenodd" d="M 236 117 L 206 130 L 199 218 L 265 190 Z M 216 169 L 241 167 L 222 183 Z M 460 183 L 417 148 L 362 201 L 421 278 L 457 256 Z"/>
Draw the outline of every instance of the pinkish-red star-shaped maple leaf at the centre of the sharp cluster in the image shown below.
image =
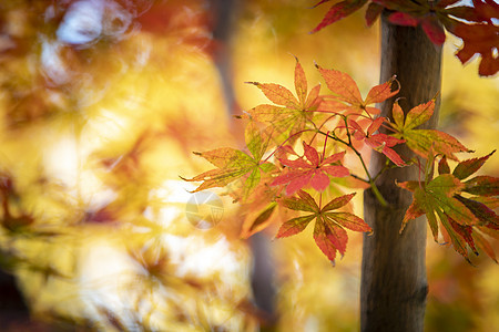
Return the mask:
<path fill-rule="evenodd" d="M 271 186 L 286 185 L 286 195 L 293 195 L 308 184 L 317 191 L 324 191 L 329 186 L 329 176 L 345 177 L 350 173 L 345 166 L 330 165 L 343 159 L 345 152 L 330 155 L 325 158 L 324 154 L 319 154 L 314 147 L 303 143 L 304 157 L 296 160 L 289 160 L 286 157 L 278 157 L 289 172 L 276 177 Z"/>

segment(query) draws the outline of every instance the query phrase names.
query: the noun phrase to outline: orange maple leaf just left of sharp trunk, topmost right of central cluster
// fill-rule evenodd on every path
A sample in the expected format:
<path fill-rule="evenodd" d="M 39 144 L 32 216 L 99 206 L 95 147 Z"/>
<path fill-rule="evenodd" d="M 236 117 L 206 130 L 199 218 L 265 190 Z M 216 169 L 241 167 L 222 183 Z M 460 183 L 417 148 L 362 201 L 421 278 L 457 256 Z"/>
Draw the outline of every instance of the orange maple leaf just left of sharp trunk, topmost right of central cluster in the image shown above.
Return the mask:
<path fill-rule="evenodd" d="M 334 101 L 324 101 L 320 103 L 319 110 L 327 112 L 342 112 L 347 111 L 348 114 L 361 114 L 364 111 L 367 114 L 379 114 L 379 108 L 369 106 L 371 104 L 381 103 L 387 98 L 396 95 L 399 92 L 399 87 L 393 90 L 393 83 L 396 82 L 395 76 L 388 82 L 376 85 L 367 93 L 364 100 L 360 95 L 360 91 L 357 83 L 346 73 L 336 70 L 323 69 L 316 64 L 324 81 L 326 81 L 327 87 L 334 94 Z"/>

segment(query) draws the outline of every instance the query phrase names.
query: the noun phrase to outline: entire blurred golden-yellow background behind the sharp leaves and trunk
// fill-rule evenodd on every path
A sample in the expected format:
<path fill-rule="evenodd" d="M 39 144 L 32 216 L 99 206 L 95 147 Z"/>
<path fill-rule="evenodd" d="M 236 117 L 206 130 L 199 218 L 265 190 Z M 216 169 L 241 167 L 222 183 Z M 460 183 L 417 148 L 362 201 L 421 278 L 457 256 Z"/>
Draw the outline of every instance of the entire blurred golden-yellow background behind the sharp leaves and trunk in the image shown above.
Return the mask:
<path fill-rule="evenodd" d="M 336 267 L 310 229 L 242 238 L 223 190 L 221 218 L 198 227 L 179 177 L 211 168 L 192 152 L 242 145 L 233 115 L 266 102 L 244 82 L 293 86 L 293 55 L 310 84 L 314 61 L 363 94 L 378 83 L 379 27 L 361 10 L 309 34 L 327 10 L 313 4 L 0 3 L 2 331 L 359 329 L 360 235 Z M 459 45 L 445 44 L 440 128 L 482 156 L 497 148 L 499 81 L 462 66 Z M 472 262 L 428 238 L 426 331 L 499 326 L 498 266 Z"/>

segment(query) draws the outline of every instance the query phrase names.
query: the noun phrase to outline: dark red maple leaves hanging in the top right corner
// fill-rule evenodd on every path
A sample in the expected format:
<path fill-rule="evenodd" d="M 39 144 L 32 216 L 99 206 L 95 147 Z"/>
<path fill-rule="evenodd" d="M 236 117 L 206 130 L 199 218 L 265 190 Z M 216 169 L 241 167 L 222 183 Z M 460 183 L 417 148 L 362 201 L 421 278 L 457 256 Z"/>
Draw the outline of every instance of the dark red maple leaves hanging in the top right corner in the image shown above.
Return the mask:
<path fill-rule="evenodd" d="M 329 1 L 322 0 L 315 7 Z M 462 40 L 462 46 L 456 53 L 462 64 L 475 54 L 480 54 L 480 75 L 489 76 L 499 71 L 499 27 L 493 21 L 499 18 L 499 4 L 495 0 L 472 0 L 472 7 L 459 4 L 461 0 L 345 0 L 333 4 L 313 32 L 354 13 L 368 2 L 368 27 L 387 10 L 389 22 L 406 27 L 420 25 L 431 42 L 438 45 L 446 40 L 445 28 Z"/>

